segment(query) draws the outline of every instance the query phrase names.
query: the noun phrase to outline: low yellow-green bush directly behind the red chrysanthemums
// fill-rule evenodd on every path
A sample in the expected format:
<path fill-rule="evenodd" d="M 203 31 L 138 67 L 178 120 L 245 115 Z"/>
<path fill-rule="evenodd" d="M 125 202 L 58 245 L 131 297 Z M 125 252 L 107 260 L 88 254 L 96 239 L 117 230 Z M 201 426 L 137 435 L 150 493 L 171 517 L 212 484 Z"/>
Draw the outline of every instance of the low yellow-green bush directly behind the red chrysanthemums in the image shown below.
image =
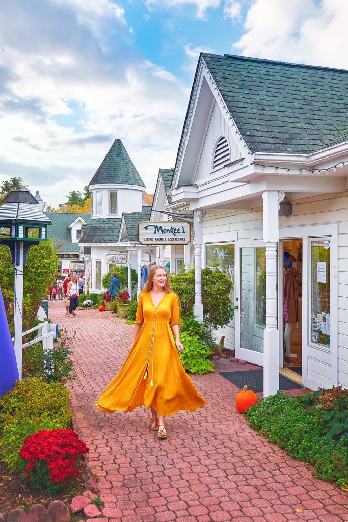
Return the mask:
<path fill-rule="evenodd" d="M 38 378 L 18 381 L 0 397 L 2 461 L 18 468 L 23 442 L 39 430 L 66 428 L 71 422 L 69 392 L 62 383 L 46 384 Z"/>

